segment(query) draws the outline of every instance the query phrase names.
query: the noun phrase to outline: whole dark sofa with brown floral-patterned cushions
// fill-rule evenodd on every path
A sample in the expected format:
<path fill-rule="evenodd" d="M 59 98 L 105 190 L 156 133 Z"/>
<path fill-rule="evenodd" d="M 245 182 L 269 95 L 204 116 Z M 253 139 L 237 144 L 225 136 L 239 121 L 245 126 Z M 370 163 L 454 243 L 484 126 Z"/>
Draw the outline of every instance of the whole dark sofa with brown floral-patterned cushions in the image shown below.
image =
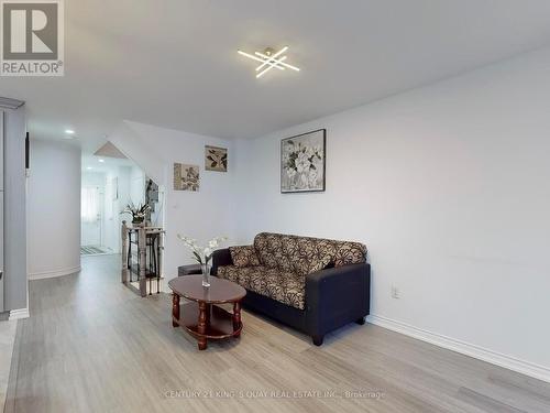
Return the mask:
<path fill-rule="evenodd" d="M 217 250 L 212 275 L 246 289 L 245 308 L 294 327 L 322 345 L 370 311 L 371 267 L 359 242 L 262 232 L 252 246 Z"/>

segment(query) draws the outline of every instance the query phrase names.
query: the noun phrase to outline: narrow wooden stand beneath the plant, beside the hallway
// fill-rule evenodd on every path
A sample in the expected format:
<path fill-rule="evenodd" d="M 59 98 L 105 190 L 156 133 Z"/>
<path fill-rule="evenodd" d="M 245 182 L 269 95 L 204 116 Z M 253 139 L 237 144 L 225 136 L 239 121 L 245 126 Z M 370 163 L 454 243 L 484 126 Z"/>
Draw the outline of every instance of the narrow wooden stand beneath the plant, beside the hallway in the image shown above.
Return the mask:
<path fill-rule="evenodd" d="M 140 295 L 152 294 L 153 280 L 156 280 L 156 292 L 160 293 L 161 278 L 163 275 L 163 251 L 165 231 L 161 227 L 132 226 L 122 221 L 122 271 L 121 282 L 132 282 L 132 274 L 136 275 L 140 283 Z M 132 260 L 132 246 L 138 249 L 138 260 Z"/>

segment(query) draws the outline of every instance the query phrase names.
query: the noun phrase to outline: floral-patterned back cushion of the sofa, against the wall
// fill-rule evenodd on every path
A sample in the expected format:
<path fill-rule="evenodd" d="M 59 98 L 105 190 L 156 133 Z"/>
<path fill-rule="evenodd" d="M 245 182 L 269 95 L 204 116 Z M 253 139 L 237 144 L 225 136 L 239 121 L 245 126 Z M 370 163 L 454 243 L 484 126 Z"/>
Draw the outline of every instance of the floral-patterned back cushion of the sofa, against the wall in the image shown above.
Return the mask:
<path fill-rule="evenodd" d="M 267 268 L 307 275 L 333 264 L 342 267 L 366 261 L 360 242 L 261 232 L 254 238 L 260 263 Z"/>

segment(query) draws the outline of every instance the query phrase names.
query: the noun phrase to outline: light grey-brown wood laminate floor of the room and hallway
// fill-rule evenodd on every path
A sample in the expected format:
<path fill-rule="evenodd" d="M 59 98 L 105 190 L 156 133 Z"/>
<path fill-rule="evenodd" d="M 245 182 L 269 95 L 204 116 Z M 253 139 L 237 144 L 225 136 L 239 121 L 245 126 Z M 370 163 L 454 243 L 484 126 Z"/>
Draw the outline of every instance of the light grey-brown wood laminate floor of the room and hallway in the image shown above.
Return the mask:
<path fill-rule="evenodd" d="M 121 285 L 117 256 L 32 281 L 6 412 L 550 412 L 550 384 L 373 325 L 315 347 L 243 313 L 240 340 L 198 351 L 168 294 Z"/>

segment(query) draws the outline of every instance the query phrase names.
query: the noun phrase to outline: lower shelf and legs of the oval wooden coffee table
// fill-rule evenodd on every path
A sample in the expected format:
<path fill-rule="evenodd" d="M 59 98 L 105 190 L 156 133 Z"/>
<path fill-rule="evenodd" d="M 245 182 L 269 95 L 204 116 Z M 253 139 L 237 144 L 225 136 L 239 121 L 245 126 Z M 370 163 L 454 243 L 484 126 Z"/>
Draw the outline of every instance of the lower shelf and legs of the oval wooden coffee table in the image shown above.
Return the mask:
<path fill-rule="evenodd" d="M 202 323 L 200 305 L 205 309 Z M 179 306 L 179 318 L 175 314 L 172 316 L 174 327 L 180 326 L 198 339 L 199 350 L 207 348 L 207 339 L 223 339 L 241 335 L 240 308 L 235 317 L 235 314 L 216 304 L 200 303 L 200 305 L 197 302 L 183 304 Z"/>

